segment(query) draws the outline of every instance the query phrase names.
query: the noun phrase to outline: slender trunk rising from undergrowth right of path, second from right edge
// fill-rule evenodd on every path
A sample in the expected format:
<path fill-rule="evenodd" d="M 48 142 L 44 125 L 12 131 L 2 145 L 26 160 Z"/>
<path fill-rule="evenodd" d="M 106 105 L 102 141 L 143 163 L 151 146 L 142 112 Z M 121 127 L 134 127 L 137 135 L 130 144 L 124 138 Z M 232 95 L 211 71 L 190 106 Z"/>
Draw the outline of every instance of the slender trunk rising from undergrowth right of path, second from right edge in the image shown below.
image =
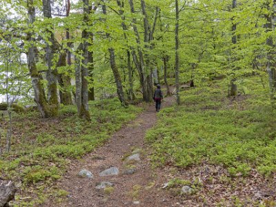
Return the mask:
<path fill-rule="evenodd" d="M 232 6 L 233 9 L 237 8 L 237 0 L 233 0 L 233 6 Z M 232 19 L 233 21 L 234 19 Z M 233 43 L 233 49 L 235 50 L 236 49 L 236 46 L 237 45 L 237 35 L 236 35 L 236 30 L 237 30 L 237 24 L 236 23 L 232 23 L 232 43 Z M 237 57 L 236 56 L 236 52 L 234 51 L 234 54 L 233 54 L 233 67 L 234 69 L 233 70 L 236 70 L 235 69 L 235 61 L 237 60 Z M 235 76 L 235 74 L 233 74 Z M 235 83 L 235 81 L 237 81 L 237 79 L 235 77 L 233 77 L 233 79 L 231 79 L 230 81 L 230 96 L 237 96 L 237 84 Z"/>

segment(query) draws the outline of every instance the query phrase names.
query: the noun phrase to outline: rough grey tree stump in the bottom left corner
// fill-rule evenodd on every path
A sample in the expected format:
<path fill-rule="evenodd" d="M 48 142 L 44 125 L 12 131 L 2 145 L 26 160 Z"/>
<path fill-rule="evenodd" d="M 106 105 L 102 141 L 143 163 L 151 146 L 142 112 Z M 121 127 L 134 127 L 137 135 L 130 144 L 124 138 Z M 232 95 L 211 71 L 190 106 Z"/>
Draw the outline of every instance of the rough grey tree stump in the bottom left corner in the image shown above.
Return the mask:
<path fill-rule="evenodd" d="M 0 179 L 0 207 L 8 207 L 9 201 L 14 199 L 16 192 L 12 181 L 4 181 Z"/>

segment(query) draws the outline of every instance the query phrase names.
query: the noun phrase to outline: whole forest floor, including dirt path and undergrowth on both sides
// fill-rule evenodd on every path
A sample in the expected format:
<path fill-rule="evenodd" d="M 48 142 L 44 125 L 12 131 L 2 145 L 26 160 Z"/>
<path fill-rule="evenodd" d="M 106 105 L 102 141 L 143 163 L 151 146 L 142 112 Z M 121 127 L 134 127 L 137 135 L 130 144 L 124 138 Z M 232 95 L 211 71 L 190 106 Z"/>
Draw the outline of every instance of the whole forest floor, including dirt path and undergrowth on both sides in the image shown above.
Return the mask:
<path fill-rule="evenodd" d="M 237 97 L 227 84 L 186 88 L 180 106 L 166 97 L 158 113 L 105 99 L 90 103 L 90 122 L 74 106 L 55 119 L 15 116 L 12 151 L 0 159 L 0 179 L 18 188 L 11 206 L 275 207 L 269 93 L 258 77 Z M 117 175 L 101 176 L 110 168 Z"/>

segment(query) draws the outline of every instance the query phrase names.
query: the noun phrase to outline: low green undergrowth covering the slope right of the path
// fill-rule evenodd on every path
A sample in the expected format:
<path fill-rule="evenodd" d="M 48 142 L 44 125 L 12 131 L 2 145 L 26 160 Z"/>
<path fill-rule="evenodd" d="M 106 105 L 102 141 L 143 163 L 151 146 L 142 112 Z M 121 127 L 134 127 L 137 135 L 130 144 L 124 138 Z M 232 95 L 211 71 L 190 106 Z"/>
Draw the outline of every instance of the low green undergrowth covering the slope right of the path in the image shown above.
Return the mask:
<path fill-rule="evenodd" d="M 246 94 L 233 99 L 226 86 L 225 80 L 213 81 L 181 92 L 181 106 L 159 113 L 157 126 L 146 135 L 153 164 L 216 164 L 232 176 L 253 169 L 267 176 L 276 172 L 276 112 L 266 88 L 256 77 L 246 79 L 239 86 Z"/>

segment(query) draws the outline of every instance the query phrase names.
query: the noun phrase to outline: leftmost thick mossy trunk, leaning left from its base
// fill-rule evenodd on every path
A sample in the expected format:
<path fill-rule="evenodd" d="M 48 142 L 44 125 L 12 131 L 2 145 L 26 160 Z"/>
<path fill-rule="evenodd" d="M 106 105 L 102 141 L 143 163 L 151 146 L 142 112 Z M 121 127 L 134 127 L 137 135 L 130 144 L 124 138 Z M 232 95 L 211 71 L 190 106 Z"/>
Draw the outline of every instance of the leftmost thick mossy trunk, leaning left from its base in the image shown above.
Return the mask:
<path fill-rule="evenodd" d="M 35 21 L 35 9 L 34 3 L 32 0 L 28 0 L 28 26 L 31 28 L 32 24 Z M 34 47 L 34 37 L 32 36 L 32 32 L 27 33 L 27 39 L 30 44 L 27 52 L 27 61 L 28 61 L 28 68 L 30 71 L 30 77 L 32 80 L 32 87 L 34 89 L 34 100 L 37 103 L 37 107 L 39 112 L 41 113 L 41 117 L 47 118 L 57 115 L 57 111 L 55 110 L 56 106 L 50 106 L 47 101 L 45 94 L 43 93 L 43 87 L 41 84 L 41 79 L 39 77 L 39 72 L 37 70 L 37 65 L 35 61 L 35 51 L 36 48 Z M 54 110 L 52 110 L 54 108 Z"/>

